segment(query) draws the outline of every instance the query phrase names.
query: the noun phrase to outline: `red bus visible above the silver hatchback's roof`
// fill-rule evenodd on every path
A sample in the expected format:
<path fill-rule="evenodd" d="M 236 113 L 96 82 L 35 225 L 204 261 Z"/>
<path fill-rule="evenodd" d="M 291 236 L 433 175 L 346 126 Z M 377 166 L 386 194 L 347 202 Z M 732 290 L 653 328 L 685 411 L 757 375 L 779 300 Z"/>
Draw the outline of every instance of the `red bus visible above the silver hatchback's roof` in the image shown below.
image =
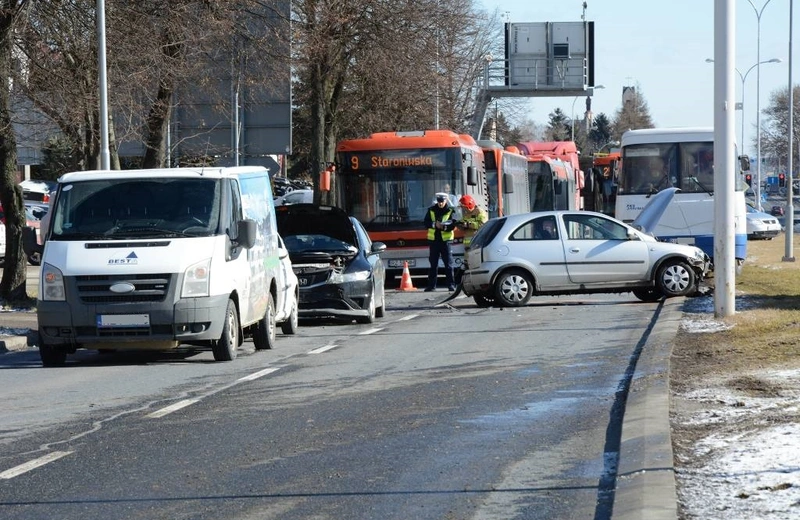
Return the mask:
<path fill-rule="evenodd" d="M 583 172 L 572 141 L 529 141 L 519 150 L 528 159 L 531 211 L 583 209 Z"/>

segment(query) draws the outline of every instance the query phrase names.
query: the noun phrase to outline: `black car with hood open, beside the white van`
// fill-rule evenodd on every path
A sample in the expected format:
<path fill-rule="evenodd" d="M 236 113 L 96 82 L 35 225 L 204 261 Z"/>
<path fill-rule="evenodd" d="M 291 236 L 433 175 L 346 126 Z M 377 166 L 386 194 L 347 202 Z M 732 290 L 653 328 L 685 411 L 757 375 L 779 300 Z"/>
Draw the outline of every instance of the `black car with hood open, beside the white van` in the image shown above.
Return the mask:
<path fill-rule="evenodd" d="M 300 317 L 372 323 L 383 316 L 385 244 L 341 208 L 292 204 L 275 213 L 300 286 Z"/>

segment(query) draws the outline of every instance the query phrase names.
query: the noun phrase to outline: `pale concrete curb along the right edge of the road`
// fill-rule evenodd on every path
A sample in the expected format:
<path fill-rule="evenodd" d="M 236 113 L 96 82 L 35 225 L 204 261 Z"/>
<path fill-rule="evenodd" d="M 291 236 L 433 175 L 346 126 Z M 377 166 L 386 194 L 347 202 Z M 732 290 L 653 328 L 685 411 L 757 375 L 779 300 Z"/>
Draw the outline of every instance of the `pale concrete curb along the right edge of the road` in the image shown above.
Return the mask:
<path fill-rule="evenodd" d="M 684 301 L 664 301 L 637 362 L 622 421 L 614 520 L 678 518 L 669 419 L 669 362 Z"/>

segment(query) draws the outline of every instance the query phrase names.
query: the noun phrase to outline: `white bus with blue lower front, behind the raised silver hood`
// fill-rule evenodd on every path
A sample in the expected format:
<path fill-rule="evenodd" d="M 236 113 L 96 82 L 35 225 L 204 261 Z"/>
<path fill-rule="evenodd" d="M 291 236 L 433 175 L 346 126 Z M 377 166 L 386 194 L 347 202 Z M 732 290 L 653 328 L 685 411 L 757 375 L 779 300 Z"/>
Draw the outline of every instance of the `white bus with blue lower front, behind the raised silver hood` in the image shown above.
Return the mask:
<path fill-rule="evenodd" d="M 614 216 L 630 223 L 653 193 L 667 187 L 679 188 L 653 234 L 662 240 L 694 244 L 713 259 L 714 130 L 628 130 L 622 134 L 621 156 Z M 747 253 L 746 188 L 739 171 L 733 204 L 734 250 L 739 266 Z"/>

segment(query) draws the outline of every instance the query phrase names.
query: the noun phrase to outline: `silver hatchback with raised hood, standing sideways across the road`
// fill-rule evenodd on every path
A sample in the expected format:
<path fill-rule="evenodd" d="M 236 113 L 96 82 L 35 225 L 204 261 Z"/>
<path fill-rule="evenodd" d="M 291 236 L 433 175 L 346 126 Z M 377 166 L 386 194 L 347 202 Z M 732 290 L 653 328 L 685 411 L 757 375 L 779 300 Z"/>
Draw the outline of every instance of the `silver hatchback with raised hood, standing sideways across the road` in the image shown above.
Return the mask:
<path fill-rule="evenodd" d="M 627 225 L 603 213 L 543 211 L 489 220 L 465 254 L 462 287 L 478 306 L 525 305 L 534 294 L 628 292 L 643 301 L 696 293 L 711 268 L 695 246 L 660 242 L 654 229 L 675 189 Z M 543 229 L 552 226 L 546 238 Z"/>

